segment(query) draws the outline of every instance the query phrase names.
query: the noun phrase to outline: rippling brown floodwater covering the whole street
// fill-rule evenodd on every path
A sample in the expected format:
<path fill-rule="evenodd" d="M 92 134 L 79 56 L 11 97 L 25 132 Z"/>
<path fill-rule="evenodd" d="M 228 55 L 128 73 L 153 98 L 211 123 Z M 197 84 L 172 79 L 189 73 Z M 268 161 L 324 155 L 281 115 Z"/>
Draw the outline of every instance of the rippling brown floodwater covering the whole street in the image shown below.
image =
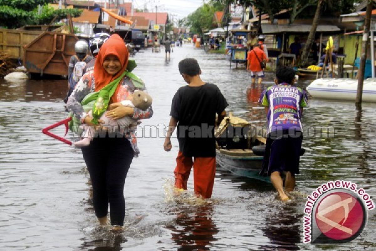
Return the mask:
<path fill-rule="evenodd" d="M 168 124 L 173 94 L 185 84 L 177 69 L 185 57 L 199 60 L 202 79 L 218 85 L 228 111 L 265 123 L 256 103 L 263 87 L 252 88 L 249 73 L 230 69 L 225 56 L 192 45 L 174 48 L 171 61 L 164 52 L 137 53 L 135 73 L 153 96 L 154 116 L 141 124 L 150 127 L 139 138 L 141 154 L 126 179 L 126 227 L 117 235 L 97 226 L 80 150 L 41 133 L 67 116 L 66 81 L 0 82 L 0 250 L 375 250 L 373 211 L 352 242 L 311 245 L 303 244 L 303 208 L 317 186 L 337 179 L 353 181 L 375 198 L 376 104 L 357 111 L 352 102 L 310 100 L 303 124 L 334 128 L 335 137 L 304 139 L 293 202 L 278 201 L 270 184 L 223 170 L 217 170 L 209 202 L 191 193 L 173 196 L 177 141 L 164 152 L 164 138 L 155 128 Z M 64 128 L 55 132 L 64 134 Z"/>

